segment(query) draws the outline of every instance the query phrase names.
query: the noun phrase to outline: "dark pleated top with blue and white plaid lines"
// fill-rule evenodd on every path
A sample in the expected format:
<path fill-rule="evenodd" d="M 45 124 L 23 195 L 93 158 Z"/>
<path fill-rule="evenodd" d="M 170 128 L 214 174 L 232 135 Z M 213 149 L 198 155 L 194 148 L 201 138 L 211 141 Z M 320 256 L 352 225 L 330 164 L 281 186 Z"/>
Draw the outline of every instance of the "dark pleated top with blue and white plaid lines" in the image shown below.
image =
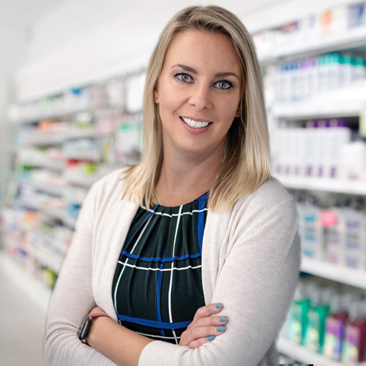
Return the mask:
<path fill-rule="evenodd" d="M 201 253 L 208 193 L 182 206 L 140 206 L 116 266 L 113 304 L 119 323 L 178 344 L 205 305 Z"/>

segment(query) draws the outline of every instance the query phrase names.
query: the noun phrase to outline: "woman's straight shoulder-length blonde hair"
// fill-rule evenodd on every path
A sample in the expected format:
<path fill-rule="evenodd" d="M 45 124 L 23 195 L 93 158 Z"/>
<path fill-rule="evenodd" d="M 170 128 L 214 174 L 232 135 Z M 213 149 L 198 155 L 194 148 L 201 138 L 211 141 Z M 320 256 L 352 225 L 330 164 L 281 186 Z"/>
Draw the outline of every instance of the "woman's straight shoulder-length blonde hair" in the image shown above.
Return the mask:
<path fill-rule="evenodd" d="M 218 211 L 231 208 L 243 194 L 253 193 L 271 178 L 269 133 L 261 71 L 253 41 L 246 27 L 232 12 L 216 5 L 190 6 L 178 12 L 165 26 L 150 58 L 143 94 L 143 154 L 138 165 L 124 171 L 128 196 L 146 207 L 158 203 L 155 185 L 163 161 L 163 138 L 154 88 L 163 68 L 172 38 L 184 30 L 220 32 L 228 36 L 242 68 L 239 117 L 227 134 L 223 162 L 210 190 L 208 206 Z"/>

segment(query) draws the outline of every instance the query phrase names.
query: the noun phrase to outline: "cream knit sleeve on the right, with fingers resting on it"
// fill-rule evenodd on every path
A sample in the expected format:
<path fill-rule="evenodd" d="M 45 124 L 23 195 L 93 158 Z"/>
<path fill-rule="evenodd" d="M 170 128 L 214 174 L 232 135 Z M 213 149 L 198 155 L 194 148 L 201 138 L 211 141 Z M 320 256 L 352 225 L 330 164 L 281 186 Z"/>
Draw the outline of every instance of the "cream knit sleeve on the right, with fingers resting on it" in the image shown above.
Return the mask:
<path fill-rule="evenodd" d="M 293 200 L 267 210 L 248 228 L 239 220 L 231 250 L 217 275 L 212 303 L 229 317 L 225 333 L 199 348 L 153 341 L 138 366 L 278 365 L 273 349 L 298 281 L 300 238 Z M 221 314 L 221 313 L 220 313 Z M 272 352 L 272 354 L 273 354 Z"/>

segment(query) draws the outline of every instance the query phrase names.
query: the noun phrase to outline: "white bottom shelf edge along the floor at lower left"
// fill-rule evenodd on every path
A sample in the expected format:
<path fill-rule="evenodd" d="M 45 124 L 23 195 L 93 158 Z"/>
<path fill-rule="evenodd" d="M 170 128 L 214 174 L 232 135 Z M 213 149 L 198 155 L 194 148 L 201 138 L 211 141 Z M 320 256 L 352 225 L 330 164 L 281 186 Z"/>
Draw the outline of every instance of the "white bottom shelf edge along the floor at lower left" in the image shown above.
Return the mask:
<path fill-rule="evenodd" d="M 22 293 L 26 294 L 39 307 L 44 315 L 47 313 L 51 290 L 40 280 L 21 268 L 19 264 L 2 250 L 0 250 L 0 270 L 20 288 Z"/>

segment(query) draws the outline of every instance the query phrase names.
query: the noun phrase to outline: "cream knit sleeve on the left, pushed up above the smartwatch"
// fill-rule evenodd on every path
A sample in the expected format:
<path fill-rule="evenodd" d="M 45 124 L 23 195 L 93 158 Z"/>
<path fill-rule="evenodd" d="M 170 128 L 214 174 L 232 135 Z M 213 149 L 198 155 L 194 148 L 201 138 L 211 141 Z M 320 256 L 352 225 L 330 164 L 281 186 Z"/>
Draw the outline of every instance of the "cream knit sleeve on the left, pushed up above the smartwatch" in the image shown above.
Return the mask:
<path fill-rule="evenodd" d="M 76 230 L 53 290 L 46 318 L 44 359 L 48 366 L 112 366 L 114 362 L 76 336 L 85 314 L 96 306 L 91 290 L 93 220 L 98 184 L 83 201 Z"/>

